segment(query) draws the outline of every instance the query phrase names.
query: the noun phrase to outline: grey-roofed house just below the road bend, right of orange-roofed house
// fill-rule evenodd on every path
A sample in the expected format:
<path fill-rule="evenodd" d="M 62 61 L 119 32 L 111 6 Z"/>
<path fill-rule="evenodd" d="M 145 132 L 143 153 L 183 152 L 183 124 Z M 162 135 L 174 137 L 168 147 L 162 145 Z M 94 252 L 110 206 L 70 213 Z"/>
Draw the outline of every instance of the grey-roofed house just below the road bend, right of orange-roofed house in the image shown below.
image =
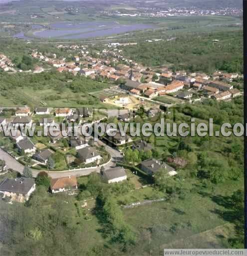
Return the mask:
<path fill-rule="evenodd" d="M 127 173 L 123 167 L 117 166 L 103 170 L 101 172 L 102 178 L 109 184 L 113 182 L 120 182 L 127 179 Z"/>

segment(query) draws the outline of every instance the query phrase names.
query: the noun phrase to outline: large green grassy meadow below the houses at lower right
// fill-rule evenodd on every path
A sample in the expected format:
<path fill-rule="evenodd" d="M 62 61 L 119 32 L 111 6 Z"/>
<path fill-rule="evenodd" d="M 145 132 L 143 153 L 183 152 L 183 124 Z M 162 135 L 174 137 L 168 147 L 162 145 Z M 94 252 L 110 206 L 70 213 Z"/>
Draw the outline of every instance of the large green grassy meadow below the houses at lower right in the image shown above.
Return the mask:
<path fill-rule="evenodd" d="M 234 235 L 234 227 L 218 213 L 224 210 L 224 206 L 216 198 L 230 195 L 236 186 L 239 187 L 238 182 L 211 186 L 203 191 L 193 184 L 193 180 L 188 180 L 188 183 L 192 184 L 191 192 L 187 192 L 184 198 L 123 209 L 126 221 L 138 234 L 139 244 L 141 240 L 141 244 L 145 244 L 137 246 L 134 255 L 148 255 L 148 237 L 150 249 L 155 253 L 159 247 L 226 247 L 227 239 Z M 139 190 L 135 190 L 133 196 Z"/>

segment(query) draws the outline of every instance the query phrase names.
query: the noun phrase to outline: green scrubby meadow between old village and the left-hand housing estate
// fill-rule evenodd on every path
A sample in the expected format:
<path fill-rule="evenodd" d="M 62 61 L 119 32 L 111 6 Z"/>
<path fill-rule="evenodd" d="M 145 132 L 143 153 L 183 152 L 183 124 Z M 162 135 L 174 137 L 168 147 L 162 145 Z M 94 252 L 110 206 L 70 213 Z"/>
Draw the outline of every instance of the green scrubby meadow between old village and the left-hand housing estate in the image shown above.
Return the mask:
<path fill-rule="evenodd" d="M 16 77 L 15 77 L 16 76 Z M 33 78 L 35 76 L 36 78 Z M 75 79 L 75 84 L 80 91 L 75 91 L 73 80 L 71 82 L 61 81 L 61 75 L 52 75 L 49 81 L 46 78 L 43 84 L 37 82 L 39 75 L 30 75 L 28 73 L 11 74 L 2 77 L 2 85 L 11 84 L 11 86 L 0 92 L 0 102 L 2 106 L 39 106 L 45 105 L 49 107 L 79 107 L 91 106 L 94 108 L 114 108 L 116 106 L 100 102 L 98 97 L 89 94 L 90 91 L 97 91 L 99 88 L 112 86 L 109 83 L 97 82 L 79 77 Z M 42 76 L 43 77 L 43 76 Z M 10 79 L 9 79 L 10 78 Z M 21 86 L 16 93 L 15 84 L 29 80 L 31 86 Z M 18 85 L 17 85 L 18 86 Z M 37 89 L 37 86 L 39 89 Z M 76 89 L 77 90 L 77 89 Z"/>

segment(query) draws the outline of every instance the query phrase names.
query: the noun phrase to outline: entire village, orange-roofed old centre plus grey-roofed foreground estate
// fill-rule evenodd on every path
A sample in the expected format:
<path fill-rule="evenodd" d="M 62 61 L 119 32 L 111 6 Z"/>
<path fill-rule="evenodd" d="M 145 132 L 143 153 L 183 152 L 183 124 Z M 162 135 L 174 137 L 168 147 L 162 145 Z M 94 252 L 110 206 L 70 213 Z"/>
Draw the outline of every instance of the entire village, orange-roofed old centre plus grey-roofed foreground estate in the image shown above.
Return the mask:
<path fill-rule="evenodd" d="M 135 111 L 140 107 L 145 114 L 153 117 L 164 107 L 176 103 L 200 102 L 204 99 L 231 100 L 240 96 L 241 91 L 231 85 L 235 79 L 241 78 L 238 73 L 224 73 L 215 71 L 213 74 L 187 73 L 184 70 L 173 72 L 167 66 L 160 67 L 159 72 L 152 67 L 145 67 L 139 63 L 125 58 L 121 47 L 128 44 L 110 43 L 101 52 L 94 52 L 90 56 L 87 45 L 57 45 L 58 49 L 68 49 L 75 54 L 72 61 L 66 58 L 59 59 L 55 53 L 45 53 L 32 50 L 30 56 L 38 59 L 38 65 L 28 72 L 45 72 L 46 66 L 56 68 L 58 72 L 71 72 L 73 75 L 83 75 L 107 81 L 111 86 L 97 93 L 102 103 L 116 106 L 116 110 L 100 111 L 93 107 L 81 108 L 55 108 L 36 106 L 21 106 L 11 109 L 11 117 L 0 116 L 0 131 L 8 123 L 13 127 L 31 126 L 37 124 L 38 130 L 44 125 L 49 127 L 55 122 L 77 124 L 103 122 L 113 116 L 119 122 L 129 122 L 135 118 Z M 4 72 L 22 72 L 16 68 L 11 60 L 0 54 L 0 68 Z M 9 111 L 0 106 L 0 112 Z M 185 164 L 179 157 L 170 158 L 168 162 L 161 161 L 156 156 L 154 146 L 146 140 L 132 138 L 128 134 L 122 135 L 116 130 L 116 135 L 107 134 L 94 141 L 93 137 L 85 137 L 79 133 L 77 136 L 64 136 L 62 130 L 57 135 L 38 137 L 22 134 L 18 129 L 15 135 L 1 137 L 2 149 L 15 160 L 32 169 L 33 173 L 40 171 L 66 171 L 69 175 L 51 179 L 50 192 L 69 191 L 76 193 L 78 188 L 76 176 L 88 175 L 92 171 L 100 173 L 106 183 L 122 182 L 140 171 L 152 177 L 161 168 L 165 169 L 167 176 L 176 175 L 179 166 Z M 133 163 L 134 169 L 126 170 L 121 164 L 124 152 L 130 148 L 142 155 L 142 160 Z M 155 158 L 156 157 L 156 158 Z M 2 164 L 3 165 L 3 164 Z M 5 166 L 5 165 L 4 165 Z M 5 172 L 4 166 L 2 171 Z M 74 174 L 75 173 L 75 174 Z M 0 183 L 0 192 L 11 200 L 25 201 L 35 190 L 33 178 L 6 178 Z M 11 201 L 10 200 L 10 201 Z"/>

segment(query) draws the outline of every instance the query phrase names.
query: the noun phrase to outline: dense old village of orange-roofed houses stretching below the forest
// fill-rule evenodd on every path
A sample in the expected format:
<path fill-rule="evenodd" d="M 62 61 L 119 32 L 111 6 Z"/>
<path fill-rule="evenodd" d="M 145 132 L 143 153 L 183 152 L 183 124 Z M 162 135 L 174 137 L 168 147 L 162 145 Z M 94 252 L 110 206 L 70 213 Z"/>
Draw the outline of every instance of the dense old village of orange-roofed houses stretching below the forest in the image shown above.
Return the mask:
<path fill-rule="evenodd" d="M 58 72 L 69 71 L 75 75 L 79 72 L 92 79 L 100 77 L 110 81 L 122 78 L 126 81 L 121 84 L 123 89 L 148 98 L 174 93 L 182 89 L 183 91 L 176 93 L 175 96 L 190 99 L 196 92 L 203 91 L 206 97 L 227 100 L 240 95 L 240 91 L 233 89 L 233 86 L 229 84 L 233 79 L 240 77 L 238 73 L 216 71 L 212 75 L 208 75 L 200 72 L 187 73 L 184 70 L 173 72 L 168 67 L 154 71 L 150 67 L 125 58 L 121 54 L 122 49 L 118 48 L 119 43 L 111 43 L 110 46 L 113 49 L 103 49 L 101 52 L 96 52 L 98 57 L 92 57 L 84 45 L 58 45 L 58 48 L 72 48 L 79 51 L 78 55 L 75 55 L 73 61 L 70 62 L 66 62 L 65 58 L 46 59 L 37 52 L 32 53 L 32 56 L 44 57 L 44 61 L 57 67 Z M 211 89 L 212 87 L 213 89 Z"/>

